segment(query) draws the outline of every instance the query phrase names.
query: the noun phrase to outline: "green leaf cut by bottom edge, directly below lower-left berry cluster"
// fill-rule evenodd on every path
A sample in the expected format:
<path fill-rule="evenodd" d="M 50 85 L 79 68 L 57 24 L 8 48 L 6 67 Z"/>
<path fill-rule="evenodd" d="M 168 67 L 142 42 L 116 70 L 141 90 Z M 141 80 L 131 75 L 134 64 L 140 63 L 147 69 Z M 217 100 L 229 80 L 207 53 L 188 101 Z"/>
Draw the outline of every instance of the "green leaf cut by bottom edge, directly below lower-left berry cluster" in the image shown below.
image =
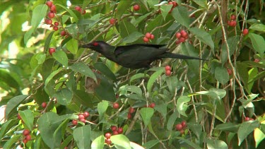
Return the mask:
<path fill-rule="evenodd" d="M 90 136 L 90 125 L 73 129 L 73 139 L 76 141 L 78 148 L 90 148 Z"/>

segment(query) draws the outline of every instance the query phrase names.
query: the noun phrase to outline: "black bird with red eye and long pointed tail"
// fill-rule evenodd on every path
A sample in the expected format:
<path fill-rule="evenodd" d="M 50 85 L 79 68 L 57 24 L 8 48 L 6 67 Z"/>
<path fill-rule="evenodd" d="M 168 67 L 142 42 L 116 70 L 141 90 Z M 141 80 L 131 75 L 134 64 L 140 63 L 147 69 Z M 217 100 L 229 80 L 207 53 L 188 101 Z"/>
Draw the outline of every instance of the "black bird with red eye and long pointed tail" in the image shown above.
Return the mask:
<path fill-rule="evenodd" d="M 150 64 L 162 58 L 200 59 L 198 57 L 167 52 L 166 44 L 130 44 L 114 47 L 103 41 L 83 44 L 81 47 L 93 49 L 107 59 L 126 68 L 150 68 Z M 206 59 L 200 59 L 206 60 Z"/>

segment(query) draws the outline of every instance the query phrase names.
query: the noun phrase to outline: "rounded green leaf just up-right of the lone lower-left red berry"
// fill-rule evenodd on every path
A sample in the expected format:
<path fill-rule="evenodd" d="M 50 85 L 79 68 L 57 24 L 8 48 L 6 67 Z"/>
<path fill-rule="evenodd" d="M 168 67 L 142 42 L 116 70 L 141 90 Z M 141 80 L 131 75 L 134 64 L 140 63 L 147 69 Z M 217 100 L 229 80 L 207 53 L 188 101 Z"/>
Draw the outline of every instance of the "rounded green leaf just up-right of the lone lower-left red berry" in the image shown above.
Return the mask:
<path fill-rule="evenodd" d="M 58 90 L 57 93 L 54 94 L 54 97 L 56 97 L 59 104 L 68 105 L 73 98 L 73 93 L 68 88 L 63 88 Z"/>

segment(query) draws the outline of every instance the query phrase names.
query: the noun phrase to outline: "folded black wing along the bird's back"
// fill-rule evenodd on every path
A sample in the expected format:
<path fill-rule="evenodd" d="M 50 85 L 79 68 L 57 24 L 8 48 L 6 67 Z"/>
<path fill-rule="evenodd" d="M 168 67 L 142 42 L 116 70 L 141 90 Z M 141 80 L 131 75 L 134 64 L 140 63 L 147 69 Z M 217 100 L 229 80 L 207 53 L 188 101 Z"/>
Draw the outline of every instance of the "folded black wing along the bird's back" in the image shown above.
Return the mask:
<path fill-rule="evenodd" d="M 158 50 L 158 52 L 161 51 L 160 47 L 165 47 L 167 44 L 131 44 L 131 45 L 124 45 L 124 46 L 118 46 L 115 49 L 114 54 L 118 56 L 119 54 L 122 54 L 124 52 L 128 52 L 131 49 L 137 49 L 138 47 L 143 47 L 144 49 L 149 50 Z M 162 49 L 164 52 L 165 48 Z"/>

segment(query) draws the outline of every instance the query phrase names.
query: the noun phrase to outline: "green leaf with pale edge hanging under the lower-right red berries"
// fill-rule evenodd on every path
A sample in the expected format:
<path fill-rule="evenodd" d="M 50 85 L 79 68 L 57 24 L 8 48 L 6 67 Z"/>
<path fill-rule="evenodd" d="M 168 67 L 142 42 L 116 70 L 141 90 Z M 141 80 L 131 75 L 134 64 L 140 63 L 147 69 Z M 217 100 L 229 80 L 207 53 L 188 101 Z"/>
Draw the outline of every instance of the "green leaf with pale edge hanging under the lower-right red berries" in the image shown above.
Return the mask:
<path fill-rule="evenodd" d="M 242 141 L 247 138 L 249 133 L 259 127 L 259 121 L 244 121 L 240 124 L 240 128 L 237 131 L 238 145 L 241 145 Z"/>

